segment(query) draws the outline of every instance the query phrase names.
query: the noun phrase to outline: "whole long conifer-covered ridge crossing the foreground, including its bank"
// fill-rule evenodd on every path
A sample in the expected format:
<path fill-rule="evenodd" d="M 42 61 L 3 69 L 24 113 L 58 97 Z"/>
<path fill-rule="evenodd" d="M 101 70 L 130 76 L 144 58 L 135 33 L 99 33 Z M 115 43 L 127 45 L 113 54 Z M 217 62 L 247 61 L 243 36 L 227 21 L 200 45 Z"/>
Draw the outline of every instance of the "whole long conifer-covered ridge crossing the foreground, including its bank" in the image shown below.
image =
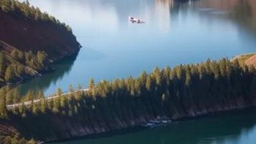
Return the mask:
<path fill-rule="evenodd" d="M 63 96 L 59 88 L 55 99 L 34 102 L 34 94 L 31 105 L 8 109 L 2 90 L 0 124 L 28 139 L 48 141 L 138 126 L 158 115 L 176 120 L 239 110 L 256 105 L 255 74 L 255 67 L 238 60 L 208 60 L 97 85 L 92 79 L 89 91 L 69 86 L 69 96 Z"/>

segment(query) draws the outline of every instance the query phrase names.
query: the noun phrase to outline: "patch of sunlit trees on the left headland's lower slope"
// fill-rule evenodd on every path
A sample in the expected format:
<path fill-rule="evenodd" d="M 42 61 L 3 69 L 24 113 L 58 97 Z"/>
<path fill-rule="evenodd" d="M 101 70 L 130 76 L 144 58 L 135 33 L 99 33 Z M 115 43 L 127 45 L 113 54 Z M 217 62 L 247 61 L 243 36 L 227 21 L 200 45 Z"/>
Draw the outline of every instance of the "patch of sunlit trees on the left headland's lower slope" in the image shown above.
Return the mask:
<path fill-rule="evenodd" d="M 48 64 L 48 56 L 44 51 L 35 55 L 31 51 L 22 52 L 13 48 L 11 53 L 0 51 L 0 82 L 15 81 L 34 70 L 42 70 Z"/>

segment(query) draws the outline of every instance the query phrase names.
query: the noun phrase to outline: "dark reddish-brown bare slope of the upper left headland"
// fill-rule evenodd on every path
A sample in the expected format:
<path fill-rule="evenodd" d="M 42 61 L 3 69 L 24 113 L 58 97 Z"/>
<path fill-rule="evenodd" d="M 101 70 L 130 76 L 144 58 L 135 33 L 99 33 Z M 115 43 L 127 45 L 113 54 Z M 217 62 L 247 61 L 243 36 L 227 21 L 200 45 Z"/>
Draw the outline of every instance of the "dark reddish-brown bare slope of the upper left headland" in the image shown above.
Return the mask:
<path fill-rule="evenodd" d="M 43 50 L 53 61 L 78 52 L 80 44 L 71 31 L 53 23 L 28 20 L 0 10 L 0 40 L 23 51 Z"/>

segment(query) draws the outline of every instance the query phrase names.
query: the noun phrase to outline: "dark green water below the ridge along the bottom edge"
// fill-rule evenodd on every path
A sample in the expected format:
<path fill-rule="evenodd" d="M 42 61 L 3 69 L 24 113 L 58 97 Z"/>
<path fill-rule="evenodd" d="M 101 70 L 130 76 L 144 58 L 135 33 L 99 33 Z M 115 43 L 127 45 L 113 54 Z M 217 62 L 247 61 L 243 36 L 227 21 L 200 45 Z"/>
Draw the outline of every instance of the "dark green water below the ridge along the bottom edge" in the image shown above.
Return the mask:
<path fill-rule="evenodd" d="M 173 122 L 167 126 L 159 126 L 153 129 L 125 129 L 107 134 L 78 137 L 73 141 L 64 143 L 253 143 L 255 137 L 256 108 L 227 113 L 208 115 L 201 118 L 192 118 L 185 121 Z M 252 134 L 252 135 L 253 135 Z M 253 140 L 252 140 L 253 139 Z M 252 141 L 250 141 L 252 140 Z M 57 142 L 56 142 L 57 143 Z"/>

